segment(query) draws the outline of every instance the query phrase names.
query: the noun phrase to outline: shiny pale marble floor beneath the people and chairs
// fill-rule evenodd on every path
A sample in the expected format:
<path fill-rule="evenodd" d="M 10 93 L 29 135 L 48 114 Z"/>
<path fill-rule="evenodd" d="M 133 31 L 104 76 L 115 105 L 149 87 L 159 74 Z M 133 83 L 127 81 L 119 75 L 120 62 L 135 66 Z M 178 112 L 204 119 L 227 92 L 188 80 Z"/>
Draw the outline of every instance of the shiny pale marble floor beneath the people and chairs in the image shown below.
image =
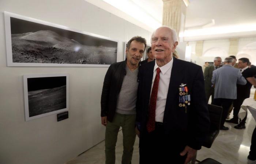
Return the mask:
<path fill-rule="evenodd" d="M 231 116 L 233 116 L 233 113 L 231 113 Z M 247 156 L 250 150 L 252 132 L 256 126 L 256 122 L 251 113 L 248 113 L 246 129 L 235 129 L 234 125 L 235 124 L 226 122 L 225 126 L 229 127 L 230 130 L 221 130 L 210 149 L 203 147 L 197 152 L 197 159 L 203 160 L 212 158 L 222 164 L 252 164 L 253 161 L 248 160 Z M 116 164 L 121 164 L 123 153 L 122 141 L 123 134 L 120 131 L 116 144 Z M 66 164 L 104 164 L 104 144 L 105 142 L 102 141 L 82 155 L 68 161 Z M 139 140 L 137 137 L 134 145 L 132 164 L 139 163 L 138 145 Z"/>

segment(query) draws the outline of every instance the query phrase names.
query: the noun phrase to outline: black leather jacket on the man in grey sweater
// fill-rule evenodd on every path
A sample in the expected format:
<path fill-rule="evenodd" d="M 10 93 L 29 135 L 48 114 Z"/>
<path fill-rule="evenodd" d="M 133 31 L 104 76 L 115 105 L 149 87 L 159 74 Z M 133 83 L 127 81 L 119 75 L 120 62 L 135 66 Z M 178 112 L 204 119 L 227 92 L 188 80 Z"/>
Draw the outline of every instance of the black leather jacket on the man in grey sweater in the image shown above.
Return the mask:
<path fill-rule="evenodd" d="M 101 94 L 101 117 L 107 116 L 112 122 L 116 112 L 117 96 L 120 93 L 124 76 L 126 75 L 126 62 L 113 63 L 105 75 Z"/>

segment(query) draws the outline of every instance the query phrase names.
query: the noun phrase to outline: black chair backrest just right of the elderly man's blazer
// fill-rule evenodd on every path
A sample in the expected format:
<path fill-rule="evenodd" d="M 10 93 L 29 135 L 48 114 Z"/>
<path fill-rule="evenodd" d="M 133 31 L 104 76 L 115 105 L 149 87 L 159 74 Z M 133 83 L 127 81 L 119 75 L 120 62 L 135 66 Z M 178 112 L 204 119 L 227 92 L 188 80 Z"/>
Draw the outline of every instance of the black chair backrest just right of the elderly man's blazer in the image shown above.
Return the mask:
<path fill-rule="evenodd" d="M 210 115 L 210 130 L 219 130 L 221 125 L 222 107 L 208 104 L 208 111 Z"/>

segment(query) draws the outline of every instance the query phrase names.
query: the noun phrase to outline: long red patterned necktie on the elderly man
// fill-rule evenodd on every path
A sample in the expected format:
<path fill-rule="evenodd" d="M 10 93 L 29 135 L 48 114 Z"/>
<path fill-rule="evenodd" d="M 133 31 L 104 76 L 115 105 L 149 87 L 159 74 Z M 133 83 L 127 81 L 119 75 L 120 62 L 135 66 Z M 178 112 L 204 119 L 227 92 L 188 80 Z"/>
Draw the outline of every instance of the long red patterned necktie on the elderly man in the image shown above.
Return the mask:
<path fill-rule="evenodd" d="M 147 122 L 147 131 L 152 132 L 155 130 L 155 107 L 157 105 L 157 92 L 158 92 L 158 84 L 160 79 L 160 68 L 157 68 L 157 74 L 155 75 L 155 80 L 153 84 L 153 88 L 151 91 L 151 97 L 149 102 L 149 114 L 148 114 L 148 122 Z"/>

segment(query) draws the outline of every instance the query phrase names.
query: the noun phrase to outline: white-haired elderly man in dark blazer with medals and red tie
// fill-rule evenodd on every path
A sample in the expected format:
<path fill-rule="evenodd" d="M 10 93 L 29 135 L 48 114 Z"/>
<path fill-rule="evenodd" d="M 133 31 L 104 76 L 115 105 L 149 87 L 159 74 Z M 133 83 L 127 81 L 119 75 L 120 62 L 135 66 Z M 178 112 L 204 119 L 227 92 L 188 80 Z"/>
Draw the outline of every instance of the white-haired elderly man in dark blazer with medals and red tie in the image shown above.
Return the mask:
<path fill-rule="evenodd" d="M 187 164 L 210 125 L 202 67 L 173 58 L 176 31 L 152 35 L 155 62 L 139 69 L 136 123 L 140 164 Z"/>

